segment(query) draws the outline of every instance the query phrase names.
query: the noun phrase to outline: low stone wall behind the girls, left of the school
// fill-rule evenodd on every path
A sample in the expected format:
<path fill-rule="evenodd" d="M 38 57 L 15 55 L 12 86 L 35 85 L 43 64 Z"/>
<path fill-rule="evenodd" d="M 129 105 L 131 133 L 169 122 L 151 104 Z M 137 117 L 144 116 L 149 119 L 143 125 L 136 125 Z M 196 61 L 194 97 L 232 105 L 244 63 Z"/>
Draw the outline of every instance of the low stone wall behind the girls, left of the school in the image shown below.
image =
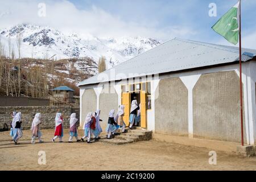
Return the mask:
<path fill-rule="evenodd" d="M 57 112 L 60 112 L 64 118 L 64 127 L 69 127 L 69 117 L 71 113 L 77 109 L 73 109 L 71 106 L 29 106 L 29 107 L 0 107 L 0 126 L 2 127 L 4 123 L 7 123 L 10 128 L 10 123 L 12 121 L 10 113 L 12 111 L 22 113 L 22 127 L 23 129 L 30 129 L 33 117 L 36 113 L 42 114 L 42 124 L 40 125 L 42 129 L 51 129 L 55 127 L 55 116 Z M 79 124 L 79 122 L 77 123 Z"/>

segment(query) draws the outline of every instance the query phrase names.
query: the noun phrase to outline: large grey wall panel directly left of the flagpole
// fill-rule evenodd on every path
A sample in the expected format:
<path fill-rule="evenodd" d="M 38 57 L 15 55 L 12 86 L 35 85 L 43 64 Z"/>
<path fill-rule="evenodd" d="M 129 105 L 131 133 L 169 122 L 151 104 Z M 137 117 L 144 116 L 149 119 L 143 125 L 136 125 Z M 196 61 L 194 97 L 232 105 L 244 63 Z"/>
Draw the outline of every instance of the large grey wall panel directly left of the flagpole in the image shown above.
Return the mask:
<path fill-rule="evenodd" d="M 201 75 L 193 89 L 194 137 L 240 142 L 240 126 L 240 82 L 237 73 L 228 71 Z M 244 139 L 246 141 L 245 127 Z"/>

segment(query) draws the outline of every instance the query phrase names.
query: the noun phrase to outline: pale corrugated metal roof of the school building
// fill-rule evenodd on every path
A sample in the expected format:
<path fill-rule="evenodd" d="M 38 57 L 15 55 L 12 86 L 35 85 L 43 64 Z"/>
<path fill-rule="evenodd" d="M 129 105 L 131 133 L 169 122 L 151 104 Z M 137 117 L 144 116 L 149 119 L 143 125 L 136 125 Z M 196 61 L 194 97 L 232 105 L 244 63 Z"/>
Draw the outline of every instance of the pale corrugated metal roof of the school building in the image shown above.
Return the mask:
<path fill-rule="evenodd" d="M 242 57 L 243 61 L 250 60 L 252 55 L 256 56 L 254 49 L 242 48 L 242 52 L 247 52 Z M 99 75 L 88 78 L 80 82 L 79 86 L 232 63 L 238 59 L 238 47 L 175 38 Z"/>

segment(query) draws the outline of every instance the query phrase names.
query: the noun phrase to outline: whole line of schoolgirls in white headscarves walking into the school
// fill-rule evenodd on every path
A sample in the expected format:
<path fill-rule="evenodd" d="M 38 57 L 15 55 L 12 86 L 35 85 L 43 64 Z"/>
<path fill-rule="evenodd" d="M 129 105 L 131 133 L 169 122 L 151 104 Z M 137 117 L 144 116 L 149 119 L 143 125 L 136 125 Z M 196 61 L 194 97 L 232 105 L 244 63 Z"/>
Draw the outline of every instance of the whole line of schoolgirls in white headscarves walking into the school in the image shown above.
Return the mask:
<path fill-rule="evenodd" d="M 112 139 L 113 135 L 117 135 L 117 131 L 121 130 L 122 133 L 126 133 L 125 130 L 125 122 L 123 121 L 123 116 L 125 114 L 125 106 L 121 105 L 118 108 L 118 113 L 114 115 L 115 110 L 112 109 L 109 112 L 109 119 L 108 119 L 108 125 L 106 127 L 106 133 L 107 133 L 107 139 Z M 13 117 L 13 120 L 11 122 L 11 131 L 10 135 L 12 137 L 12 140 L 15 144 L 19 144 L 18 140 L 22 138 L 22 113 L 18 112 L 16 113 L 13 111 L 11 113 L 11 116 Z M 84 130 L 84 137 L 79 139 L 77 134 L 77 123 L 78 119 L 76 118 L 76 113 L 72 113 L 69 120 L 69 143 L 72 143 L 73 137 L 76 138 L 77 142 L 84 142 L 84 139 L 86 138 L 87 143 L 92 143 L 90 141 L 91 135 L 94 135 L 94 139 L 98 140 L 100 139 L 100 134 L 102 133 L 102 128 L 100 125 L 100 122 L 102 121 L 100 119 L 100 110 L 96 110 L 96 112 L 88 113 L 85 118 L 84 125 L 82 129 Z M 131 102 L 131 110 L 130 110 L 130 125 L 129 129 L 132 129 L 131 127 L 134 125 L 137 125 L 140 121 L 140 108 L 137 104 L 137 100 L 133 100 Z M 32 131 L 32 138 L 31 143 L 35 144 L 35 139 L 39 139 L 39 143 L 43 143 L 42 140 L 42 132 L 40 131 L 40 124 L 42 123 L 41 113 L 36 113 L 35 117 L 33 119 L 32 125 L 31 125 L 31 131 Z M 59 142 L 63 142 L 63 117 L 61 113 L 56 113 L 55 117 L 55 134 L 54 137 L 51 139 L 52 142 L 55 142 L 57 138 L 59 138 Z"/>

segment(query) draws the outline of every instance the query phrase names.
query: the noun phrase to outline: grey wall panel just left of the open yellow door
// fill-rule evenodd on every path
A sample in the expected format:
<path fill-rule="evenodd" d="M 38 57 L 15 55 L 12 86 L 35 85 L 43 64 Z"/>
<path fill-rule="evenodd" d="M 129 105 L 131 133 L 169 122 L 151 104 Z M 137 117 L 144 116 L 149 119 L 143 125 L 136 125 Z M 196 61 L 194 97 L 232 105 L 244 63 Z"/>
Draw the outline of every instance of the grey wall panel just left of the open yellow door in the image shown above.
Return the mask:
<path fill-rule="evenodd" d="M 110 89 L 112 92 L 110 92 Z M 108 119 L 109 119 L 109 111 L 115 109 L 115 114 L 118 111 L 118 94 L 115 92 L 114 87 L 106 87 L 102 89 L 100 94 L 100 110 L 101 110 L 101 122 L 102 129 L 105 129 Z"/>

